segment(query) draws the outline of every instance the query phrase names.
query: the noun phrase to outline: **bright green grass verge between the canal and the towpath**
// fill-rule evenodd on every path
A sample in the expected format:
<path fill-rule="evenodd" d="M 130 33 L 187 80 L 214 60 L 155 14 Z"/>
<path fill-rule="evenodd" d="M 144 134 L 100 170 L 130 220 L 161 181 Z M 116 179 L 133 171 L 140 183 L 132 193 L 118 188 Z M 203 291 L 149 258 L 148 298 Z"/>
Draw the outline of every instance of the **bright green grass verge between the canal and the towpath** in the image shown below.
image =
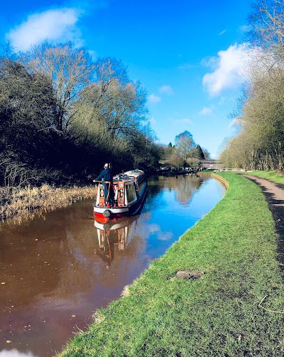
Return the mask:
<path fill-rule="evenodd" d="M 219 204 L 59 356 L 284 355 L 284 315 L 259 306 L 284 310 L 273 218 L 255 183 L 221 176 Z M 171 280 L 179 269 L 206 274 Z"/>

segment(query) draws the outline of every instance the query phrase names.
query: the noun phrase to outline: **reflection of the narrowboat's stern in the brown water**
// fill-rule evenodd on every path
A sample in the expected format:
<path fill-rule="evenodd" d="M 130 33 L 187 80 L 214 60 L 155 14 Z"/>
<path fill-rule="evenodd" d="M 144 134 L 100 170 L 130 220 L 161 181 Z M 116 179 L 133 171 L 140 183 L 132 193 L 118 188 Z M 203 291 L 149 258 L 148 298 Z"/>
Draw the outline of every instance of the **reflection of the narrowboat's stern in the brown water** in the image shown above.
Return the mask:
<path fill-rule="evenodd" d="M 118 221 L 99 222 L 95 220 L 95 229 L 99 249 L 95 253 L 102 258 L 109 268 L 118 251 L 124 251 L 131 242 L 139 216 L 121 218 Z"/>

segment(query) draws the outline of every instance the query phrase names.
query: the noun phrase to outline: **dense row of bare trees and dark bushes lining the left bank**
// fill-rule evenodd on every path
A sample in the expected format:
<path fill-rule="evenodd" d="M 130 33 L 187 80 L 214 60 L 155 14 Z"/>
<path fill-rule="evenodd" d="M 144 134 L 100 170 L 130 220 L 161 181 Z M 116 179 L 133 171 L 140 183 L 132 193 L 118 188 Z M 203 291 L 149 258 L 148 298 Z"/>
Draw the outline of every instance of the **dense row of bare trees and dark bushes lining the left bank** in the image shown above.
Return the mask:
<path fill-rule="evenodd" d="M 0 185 L 88 183 L 103 163 L 155 167 L 146 92 L 116 58 L 72 44 L 0 57 Z"/>

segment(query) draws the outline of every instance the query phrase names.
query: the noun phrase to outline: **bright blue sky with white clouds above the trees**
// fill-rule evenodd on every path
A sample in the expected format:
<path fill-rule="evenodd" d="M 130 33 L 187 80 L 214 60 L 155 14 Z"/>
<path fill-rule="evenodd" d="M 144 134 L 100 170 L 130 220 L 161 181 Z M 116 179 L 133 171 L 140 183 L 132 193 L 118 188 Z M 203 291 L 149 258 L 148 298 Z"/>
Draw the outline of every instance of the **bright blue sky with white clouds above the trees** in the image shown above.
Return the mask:
<path fill-rule="evenodd" d="M 16 0 L 1 8 L 2 43 L 24 51 L 70 40 L 93 58 L 123 60 L 148 92 L 160 142 L 188 130 L 216 157 L 234 132 L 249 0 Z"/>

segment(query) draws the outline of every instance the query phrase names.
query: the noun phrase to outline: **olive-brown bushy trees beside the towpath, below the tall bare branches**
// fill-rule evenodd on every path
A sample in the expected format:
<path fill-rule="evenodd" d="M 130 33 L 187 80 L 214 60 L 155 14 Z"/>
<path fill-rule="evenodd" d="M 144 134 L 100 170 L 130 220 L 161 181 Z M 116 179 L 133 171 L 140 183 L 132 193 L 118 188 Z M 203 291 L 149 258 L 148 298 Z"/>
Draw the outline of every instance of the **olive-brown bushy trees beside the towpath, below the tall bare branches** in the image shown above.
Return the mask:
<path fill-rule="evenodd" d="M 221 159 L 245 169 L 284 169 L 284 69 L 255 76 L 248 89 L 241 129 Z"/>

